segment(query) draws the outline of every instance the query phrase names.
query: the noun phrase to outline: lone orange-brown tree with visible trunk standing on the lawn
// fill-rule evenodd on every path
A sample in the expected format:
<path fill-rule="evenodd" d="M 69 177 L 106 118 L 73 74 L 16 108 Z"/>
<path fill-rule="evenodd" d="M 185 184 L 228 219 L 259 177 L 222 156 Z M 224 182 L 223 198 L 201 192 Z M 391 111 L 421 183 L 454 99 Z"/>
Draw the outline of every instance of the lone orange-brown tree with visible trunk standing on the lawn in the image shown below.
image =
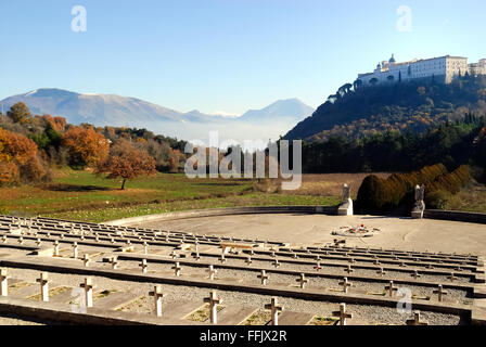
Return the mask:
<path fill-rule="evenodd" d="M 139 176 L 155 175 L 155 159 L 146 151 L 136 149 L 128 140 L 118 140 L 106 160 L 101 162 L 94 174 L 107 174 L 106 178 L 122 178 L 122 190 L 127 180 Z"/>

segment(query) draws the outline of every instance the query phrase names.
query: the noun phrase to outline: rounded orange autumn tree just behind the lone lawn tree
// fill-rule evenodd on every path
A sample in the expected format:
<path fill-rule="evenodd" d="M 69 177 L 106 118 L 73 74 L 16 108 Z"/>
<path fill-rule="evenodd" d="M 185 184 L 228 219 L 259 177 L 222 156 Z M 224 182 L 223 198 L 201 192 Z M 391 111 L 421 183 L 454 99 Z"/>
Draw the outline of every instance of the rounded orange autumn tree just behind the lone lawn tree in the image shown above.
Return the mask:
<path fill-rule="evenodd" d="M 62 142 L 69 151 L 73 166 L 95 166 L 106 159 L 110 151 L 110 141 L 91 128 L 73 127 L 64 133 Z"/>

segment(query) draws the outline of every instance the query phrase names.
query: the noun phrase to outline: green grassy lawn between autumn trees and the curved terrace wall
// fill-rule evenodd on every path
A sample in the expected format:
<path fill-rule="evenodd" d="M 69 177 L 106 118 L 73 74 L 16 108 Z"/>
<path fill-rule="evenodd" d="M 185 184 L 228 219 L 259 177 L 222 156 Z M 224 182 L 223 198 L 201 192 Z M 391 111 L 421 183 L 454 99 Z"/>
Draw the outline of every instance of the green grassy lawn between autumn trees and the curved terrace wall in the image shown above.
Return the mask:
<path fill-rule="evenodd" d="M 183 174 L 120 182 L 89 171 L 56 170 L 52 183 L 0 189 L 0 214 L 102 222 L 166 211 L 264 205 L 331 205 L 338 194 L 269 193 L 245 179 L 188 179 Z M 316 182 L 312 182 L 315 185 Z M 335 183 L 341 184 L 341 183 Z M 305 184 L 304 184 L 305 185 Z M 303 185 L 303 187 L 304 187 Z M 329 187 L 329 182 L 322 182 Z M 264 190 L 261 192 L 260 190 Z"/>

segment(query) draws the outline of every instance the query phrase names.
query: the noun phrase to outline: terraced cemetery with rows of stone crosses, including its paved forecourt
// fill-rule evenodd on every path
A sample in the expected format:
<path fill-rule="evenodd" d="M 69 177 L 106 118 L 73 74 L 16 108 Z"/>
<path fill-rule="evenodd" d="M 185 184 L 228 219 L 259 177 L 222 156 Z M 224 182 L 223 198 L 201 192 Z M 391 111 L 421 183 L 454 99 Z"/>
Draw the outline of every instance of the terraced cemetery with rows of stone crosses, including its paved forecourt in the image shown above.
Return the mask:
<path fill-rule="evenodd" d="M 0 321 L 9 323 L 13 314 L 27 323 L 36 319 L 72 324 L 486 322 L 484 254 L 475 248 L 444 252 L 438 244 L 417 250 L 394 243 L 385 218 L 369 219 L 364 227 L 354 221 L 366 217 L 353 215 L 231 216 L 241 228 L 252 227 L 245 226 L 245 218 L 300 218 L 302 229 L 304 218 L 311 224 L 321 218 L 335 226 L 361 226 L 355 230 L 380 230 L 362 239 L 335 235 L 329 228 L 317 231 L 320 239 L 310 232 L 308 237 L 316 242 L 284 233 L 279 241 L 279 233 L 265 234 L 265 222 L 260 237 L 240 230 L 240 236 L 232 235 L 231 224 L 228 234 L 225 228 L 205 232 L 204 226 L 213 224 L 205 219 L 215 218 L 128 220 L 122 226 L 0 216 Z M 401 220 L 412 229 L 421 221 L 429 222 Z M 438 233 L 446 223 L 462 236 L 469 232 L 468 223 L 434 222 Z M 153 227 L 157 223 L 163 228 Z M 484 226 L 469 227 L 485 232 Z M 435 239 L 434 229 L 426 229 Z M 463 248 L 468 250 L 468 244 Z"/>

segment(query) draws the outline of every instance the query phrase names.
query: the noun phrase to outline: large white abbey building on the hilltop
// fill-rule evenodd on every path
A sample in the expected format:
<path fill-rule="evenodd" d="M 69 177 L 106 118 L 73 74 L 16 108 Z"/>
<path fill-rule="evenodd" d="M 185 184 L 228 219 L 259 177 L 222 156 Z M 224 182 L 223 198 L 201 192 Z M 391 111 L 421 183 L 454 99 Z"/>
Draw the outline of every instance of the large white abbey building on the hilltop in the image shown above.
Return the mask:
<path fill-rule="evenodd" d="M 486 59 L 475 64 L 468 64 L 468 57 L 445 55 L 397 63 L 392 54 L 389 61 L 378 64 L 374 72 L 359 74 L 356 82 L 366 87 L 419 78 L 434 78 L 437 82 L 450 83 L 455 77 L 464 76 L 466 73 L 486 75 Z"/>

